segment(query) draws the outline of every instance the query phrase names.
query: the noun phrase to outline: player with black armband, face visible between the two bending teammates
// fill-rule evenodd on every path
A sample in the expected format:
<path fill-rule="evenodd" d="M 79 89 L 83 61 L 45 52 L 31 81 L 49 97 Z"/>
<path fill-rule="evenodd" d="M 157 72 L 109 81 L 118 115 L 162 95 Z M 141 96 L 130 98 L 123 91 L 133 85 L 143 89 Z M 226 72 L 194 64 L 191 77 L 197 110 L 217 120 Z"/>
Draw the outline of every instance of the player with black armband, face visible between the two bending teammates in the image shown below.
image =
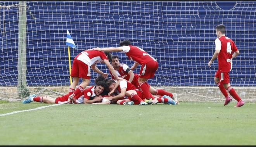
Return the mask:
<path fill-rule="evenodd" d="M 135 87 L 140 88 L 140 86 L 138 84 L 138 77 L 139 77 L 138 74 L 133 73 L 133 71 L 130 69 L 130 67 L 127 66 L 126 64 L 120 64 L 118 56 L 111 57 L 111 65 L 114 67 L 114 69 L 119 77 L 124 78 L 127 81 L 130 81 L 133 85 L 135 85 Z M 115 79 L 114 76 L 112 75 L 111 71 L 109 71 L 109 73 L 111 74 L 111 79 Z M 148 86 L 149 86 L 149 92 L 151 93 L 150 94 L 151 98 L 154 99 L 153 95 L 161 95 L 161 96 L 169 95 L 173 100 L 175 100 L 177 102 L 177 104 L 179 104 L 179 102 L 177 100 L 177 93 L 170 93 L 165 90 L 155 89 L 150 85 L 148 85 Z"/>

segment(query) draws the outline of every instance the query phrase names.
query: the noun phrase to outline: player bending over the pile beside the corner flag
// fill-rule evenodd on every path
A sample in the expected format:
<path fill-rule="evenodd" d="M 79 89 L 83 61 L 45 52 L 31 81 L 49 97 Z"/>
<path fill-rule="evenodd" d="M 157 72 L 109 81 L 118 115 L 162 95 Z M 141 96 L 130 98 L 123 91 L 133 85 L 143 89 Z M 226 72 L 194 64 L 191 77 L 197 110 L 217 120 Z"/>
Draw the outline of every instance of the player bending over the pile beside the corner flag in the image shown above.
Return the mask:
<path fill-rule="evenodd" d="M 78 95 L 83 91 L 83 89 L 89 85 L 90 83 L 90 67 L 92 67 L 93 71 L 104 75 L 105 77 L 107 76 L 107 73 L 103 73 L 100 71 L 96 64 L 99 62 L 104 62 L 107 67 L 109 68 L 110 71 L 114 72 L 114 68 L 111 66 L 109 63 L 109 59 L 111 59 L 111 54 L 105 53 L 102 51 L 98 50 L 85 50 L 78 54 L 73 61 L 72 69 L 71 69 L 71 74 L 70 76 L 73 77 L 73 83 L 70 85 L 70 90 L 73 90 L 74 93 L 71 93 L 69 95 L 69 99 L 71 100 L 73 97 Z M 117 79 L 120 79 L 116 73 L 113 74 Z M 83 82 L 78 86 L 76 90 L 74 88 L 76 85 L 78 85 L 79 79 L 82 78 Z M 69 94 L 69 93 L 68 93 Z"/>

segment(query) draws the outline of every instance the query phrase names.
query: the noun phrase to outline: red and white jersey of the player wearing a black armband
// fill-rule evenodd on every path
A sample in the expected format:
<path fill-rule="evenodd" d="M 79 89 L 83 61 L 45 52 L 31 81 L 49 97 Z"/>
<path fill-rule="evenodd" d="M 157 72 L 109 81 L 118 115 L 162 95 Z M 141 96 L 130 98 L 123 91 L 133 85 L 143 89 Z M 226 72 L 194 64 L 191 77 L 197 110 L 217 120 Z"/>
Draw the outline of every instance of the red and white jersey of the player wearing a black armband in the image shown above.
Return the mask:
<path fill-rule="evenodd" d="M 129 81 L 130 79 L 130 75 L 128 74 L 128 72 L 130 71 L 130 67 L 127 66 L 126 64 L 120 64 L 119 70 L 115 70 L 116 74 L 118 75 L 118 77 L 121 77 L 127 81 Z M 111 74 L 111 79 L 115 79 L 114 76 L 112 75 L 111 71 L 109 71 L 109 73 Z M 131 83 L 135 86 L 138 86 L 138 74 L 134 74 L 133 80 L 131 81 Z"/>

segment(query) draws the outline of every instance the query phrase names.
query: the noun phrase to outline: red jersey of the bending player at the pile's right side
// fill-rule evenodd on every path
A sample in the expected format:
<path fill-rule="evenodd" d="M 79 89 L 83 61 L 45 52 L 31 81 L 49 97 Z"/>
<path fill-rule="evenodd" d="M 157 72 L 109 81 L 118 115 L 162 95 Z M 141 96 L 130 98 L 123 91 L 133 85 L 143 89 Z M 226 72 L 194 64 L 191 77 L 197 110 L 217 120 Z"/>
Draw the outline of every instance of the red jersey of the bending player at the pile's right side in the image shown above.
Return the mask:
<path fill-rule="evenodd" d="M 136 61 L 138 64 L 144 65 L 149 61 L 156 61 L 151 55 L 147 54 L 142 48 L 129 45 L 122 47 L 125 54 L 132 61 Z"/>

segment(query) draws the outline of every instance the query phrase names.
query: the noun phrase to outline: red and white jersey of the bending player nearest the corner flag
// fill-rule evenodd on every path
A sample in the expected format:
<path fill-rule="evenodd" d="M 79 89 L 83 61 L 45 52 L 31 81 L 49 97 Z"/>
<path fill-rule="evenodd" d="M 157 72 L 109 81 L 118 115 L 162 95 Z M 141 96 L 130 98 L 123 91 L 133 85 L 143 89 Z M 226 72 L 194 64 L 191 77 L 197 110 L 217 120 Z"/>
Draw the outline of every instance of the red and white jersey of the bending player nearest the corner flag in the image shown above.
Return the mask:
<path fill-rule="evenodd" d="M 81 52 L 74 59 L 80 60 L 88 66 L 102 62 L 104 59 L 108 60 L 106 54 L 103 51 L 93 49 Z"/>

